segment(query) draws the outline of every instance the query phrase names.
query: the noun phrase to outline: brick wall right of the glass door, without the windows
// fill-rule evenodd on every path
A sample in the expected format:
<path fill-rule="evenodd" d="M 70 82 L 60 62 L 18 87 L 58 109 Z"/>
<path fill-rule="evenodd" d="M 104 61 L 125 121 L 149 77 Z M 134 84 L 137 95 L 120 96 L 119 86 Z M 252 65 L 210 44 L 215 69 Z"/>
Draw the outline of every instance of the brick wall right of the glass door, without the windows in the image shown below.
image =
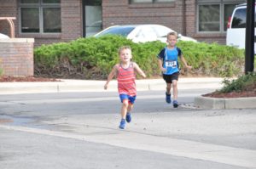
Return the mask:
<path fill-rule="evenodd" d="M 185 1 L 185 17 L 183 17 L 182 0 L 148 4 L 129 4 L 128 0 L 102 0 L 102 10 L 103 28 L 110 25 L 160 24 L 182 33 L 183 36 L 195 37 L 202 42 L 225 43 L 225 33 L 197 33 L 196 0 Z M 183 28 L 183 18 L 185 28 Z"/>

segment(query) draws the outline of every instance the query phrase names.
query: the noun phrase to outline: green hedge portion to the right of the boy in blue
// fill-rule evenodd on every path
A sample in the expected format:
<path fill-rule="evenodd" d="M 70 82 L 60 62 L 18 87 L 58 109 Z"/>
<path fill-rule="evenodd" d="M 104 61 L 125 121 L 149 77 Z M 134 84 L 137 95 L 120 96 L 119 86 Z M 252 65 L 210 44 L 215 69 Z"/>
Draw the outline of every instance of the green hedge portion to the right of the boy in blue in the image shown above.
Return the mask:
<path fill-rule="evenodd" d="M 241 49 L 205 42 L 178 42 L 177 46 L 198 75 L 230 77 L 242 73 L 244 51 Z"/>

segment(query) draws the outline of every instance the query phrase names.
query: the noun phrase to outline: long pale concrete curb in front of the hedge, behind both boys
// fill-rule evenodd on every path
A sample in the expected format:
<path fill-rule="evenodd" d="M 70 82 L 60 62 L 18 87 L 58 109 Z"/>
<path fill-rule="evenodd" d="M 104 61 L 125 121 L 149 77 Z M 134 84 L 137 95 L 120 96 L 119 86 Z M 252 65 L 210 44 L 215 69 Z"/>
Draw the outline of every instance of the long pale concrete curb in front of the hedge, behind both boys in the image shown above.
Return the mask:
<path fill-rule="evenodd" d="M 220 87 L 221 78 L 180 78 L 179 89 Z M 106 81 L 61 80 L 61 82 L 0 82 L 1 94 L 17 93 L 62 93 L 62 92 L 113 92 L 117 91 L 117 82 L 111 81 L 108 90 L 104 90 Z M 203 84 L 203 86 L 199 85 Z M 166 83 L 163 79 L 137 80 L 137 91 L 164 90 Z"/>

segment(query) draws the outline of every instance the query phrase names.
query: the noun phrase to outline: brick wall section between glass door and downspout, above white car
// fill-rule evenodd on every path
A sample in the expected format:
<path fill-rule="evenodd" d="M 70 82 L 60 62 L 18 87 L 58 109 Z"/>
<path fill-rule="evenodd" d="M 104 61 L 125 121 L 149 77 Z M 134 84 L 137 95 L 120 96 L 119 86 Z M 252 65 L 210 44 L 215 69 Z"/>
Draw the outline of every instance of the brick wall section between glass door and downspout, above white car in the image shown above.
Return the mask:
<path fill-rule="evenodd" d="M 182 3 L 129 4 L 128 0 L 102 0 L 103 27 L 125 24 L 160 24 L 182 31 Z"/>

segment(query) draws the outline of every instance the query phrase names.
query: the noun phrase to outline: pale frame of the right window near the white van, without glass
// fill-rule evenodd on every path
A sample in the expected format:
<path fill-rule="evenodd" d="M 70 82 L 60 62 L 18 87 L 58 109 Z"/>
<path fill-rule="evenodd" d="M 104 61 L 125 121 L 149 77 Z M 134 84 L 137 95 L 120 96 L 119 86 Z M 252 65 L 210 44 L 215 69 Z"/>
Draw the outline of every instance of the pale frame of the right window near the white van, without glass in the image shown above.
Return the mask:
<path fill-rule="evenodd" d="M 216 33 L 226 33 L 227 31 L 224 30 L 224 6 L 226 4 L 239 4 L 239 3 L 243 3 L 242 0 L 198 0 L 197 4 L 196 4 L 196 32 L 197 33 L 206 33 L 206 34 L 216 34 Z M 219 5 L 219 31 L 199 31 L 199 7 L 201 5 L 214 5 L 214 4 L 218 4 Z"/>

